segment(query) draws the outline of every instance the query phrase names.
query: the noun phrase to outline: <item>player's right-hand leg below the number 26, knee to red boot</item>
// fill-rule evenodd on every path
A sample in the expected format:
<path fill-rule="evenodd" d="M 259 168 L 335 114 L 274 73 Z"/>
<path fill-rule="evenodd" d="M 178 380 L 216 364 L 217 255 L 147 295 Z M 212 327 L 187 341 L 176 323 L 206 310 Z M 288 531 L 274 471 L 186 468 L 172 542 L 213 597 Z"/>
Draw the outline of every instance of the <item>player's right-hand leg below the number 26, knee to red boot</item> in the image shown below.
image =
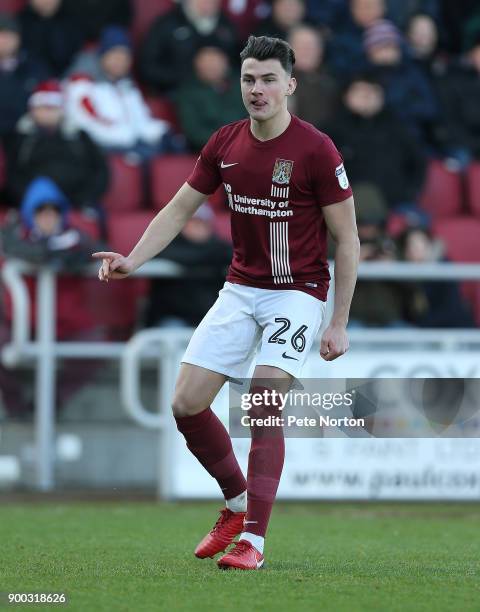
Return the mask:
<path fill-rule="evenodd" d="M 293 377 L 273 366 L 255 368 L 250 393 L 264 394 L 272 390 L 285 394 Z M 270 394 L 271 396 L 271 394 Z M 278 406 L 261 405 L 250 410 L 251 417 L 281 416 Z M 251 426 L 252 443 L 248 457 L 248 504 L 244 530 L 235 547 L 218 561 L 222 569 L 260 569 L 268 521 L 277 494 L 285 458 L 282 425 Z"/>

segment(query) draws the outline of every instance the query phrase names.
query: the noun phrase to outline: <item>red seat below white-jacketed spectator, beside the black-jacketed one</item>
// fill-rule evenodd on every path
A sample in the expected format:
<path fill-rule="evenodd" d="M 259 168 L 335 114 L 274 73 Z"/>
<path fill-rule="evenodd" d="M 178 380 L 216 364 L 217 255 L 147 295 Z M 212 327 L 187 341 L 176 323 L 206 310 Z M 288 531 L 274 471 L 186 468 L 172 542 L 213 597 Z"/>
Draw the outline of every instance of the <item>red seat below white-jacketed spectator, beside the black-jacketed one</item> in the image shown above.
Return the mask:
<path fill-rule="evenodd" d="M 124 155 L 111 155 L 108 161 L 110 185 L 103 197 L 105 210 L 115 213 L 138 210 L 143 203 L 141 167 Z"/>

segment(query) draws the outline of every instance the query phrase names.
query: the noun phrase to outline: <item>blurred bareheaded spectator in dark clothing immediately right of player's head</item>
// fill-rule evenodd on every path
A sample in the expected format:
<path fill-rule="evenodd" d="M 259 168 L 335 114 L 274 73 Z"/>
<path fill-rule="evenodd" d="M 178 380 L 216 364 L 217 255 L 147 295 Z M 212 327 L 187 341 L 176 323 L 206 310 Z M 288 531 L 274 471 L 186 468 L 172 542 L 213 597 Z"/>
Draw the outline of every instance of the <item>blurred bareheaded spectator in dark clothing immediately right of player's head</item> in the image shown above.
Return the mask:
<path fill-rule="evenodd" d="M 295 77 L 299 87 L 289 99 L 289 109 L 304 121 L 323 130 L 339 104 L 339 87 L 324 63 L 324 42 L 309 25 L 290 31 L 288 42 L 295 52 Z"/>

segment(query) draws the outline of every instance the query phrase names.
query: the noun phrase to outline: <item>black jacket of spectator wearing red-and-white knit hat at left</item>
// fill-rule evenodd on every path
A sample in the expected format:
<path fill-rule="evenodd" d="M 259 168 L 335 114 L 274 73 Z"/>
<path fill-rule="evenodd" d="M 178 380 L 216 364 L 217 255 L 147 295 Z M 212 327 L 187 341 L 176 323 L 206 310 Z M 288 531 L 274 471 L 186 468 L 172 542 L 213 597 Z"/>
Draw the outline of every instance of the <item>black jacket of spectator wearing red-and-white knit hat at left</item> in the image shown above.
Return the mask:
<path fill-rule="evenodd" d="M 23 123 L 23 126 L 22 126 Z M 9 142 L 7 189 L 18 203 L 38 176 L 51 178 L 74 207 L 98 203 L 108 186 L 108 166 L 101 150 L 83 131 L 39 129 L 26 117 Z"/>

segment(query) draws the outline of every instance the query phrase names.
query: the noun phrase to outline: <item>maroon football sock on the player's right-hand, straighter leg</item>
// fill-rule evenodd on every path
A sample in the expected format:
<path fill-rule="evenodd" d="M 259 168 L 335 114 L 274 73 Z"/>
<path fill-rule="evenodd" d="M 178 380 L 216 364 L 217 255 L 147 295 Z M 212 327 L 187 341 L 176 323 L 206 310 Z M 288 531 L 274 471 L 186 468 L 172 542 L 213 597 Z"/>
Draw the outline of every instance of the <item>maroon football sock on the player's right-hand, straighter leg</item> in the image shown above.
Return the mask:
<path fill-rule="evenodd" d="M 250 393 L 271 391 L 265 387 L 254 387 Z M 249 411 L 251 417 L 281 417 L 275 406 L 257 406 Z M 265 537 L 268 521 L 275 502 L 285 458 L 283 427 L 252 425 L 252 443 L 248 456 L 247 474 L 247 516 L 244 531 Z"/>

